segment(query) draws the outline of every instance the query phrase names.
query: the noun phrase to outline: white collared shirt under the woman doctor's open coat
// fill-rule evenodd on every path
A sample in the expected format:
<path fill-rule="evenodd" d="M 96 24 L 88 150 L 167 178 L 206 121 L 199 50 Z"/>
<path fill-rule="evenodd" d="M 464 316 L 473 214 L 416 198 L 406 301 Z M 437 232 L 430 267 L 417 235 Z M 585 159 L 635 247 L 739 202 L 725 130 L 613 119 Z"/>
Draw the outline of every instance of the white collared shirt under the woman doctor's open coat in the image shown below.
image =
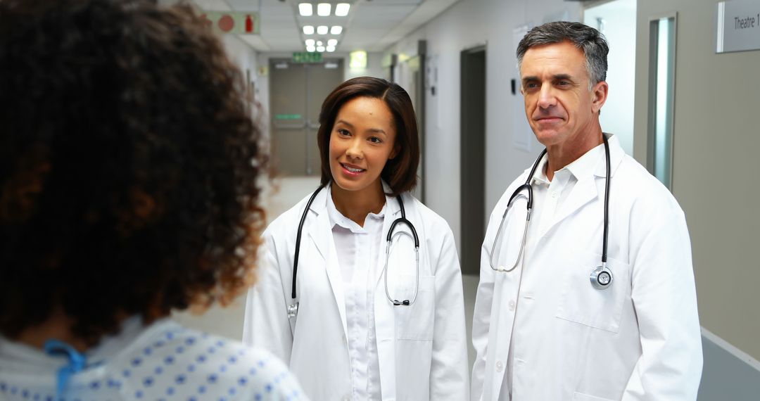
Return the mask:
<path fill-rule="evenodd" d="M 388 203 L 369 213 L 364 226 L 341 214 L 328 185 L 328 216 L 346 300 L 346 329 L 353 399 L 380 399 L 380 362 L 375 337 L 375 288 L 382 226 Z"/>

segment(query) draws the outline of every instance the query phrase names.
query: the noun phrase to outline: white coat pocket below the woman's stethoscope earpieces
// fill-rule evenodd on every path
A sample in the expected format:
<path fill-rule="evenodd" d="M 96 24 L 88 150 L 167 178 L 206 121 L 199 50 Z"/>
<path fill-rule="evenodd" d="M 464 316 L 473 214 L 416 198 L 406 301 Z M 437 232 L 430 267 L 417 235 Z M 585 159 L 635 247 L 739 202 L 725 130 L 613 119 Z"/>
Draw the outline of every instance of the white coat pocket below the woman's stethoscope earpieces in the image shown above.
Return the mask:
<path fill-rule="evenodd" d="M 413 286 L 414 276 L 405 276 L 404 282 Z M 413 288 L 407 289 L 410 297 Z M 406 298 L 404 298 L 406 299 Z M 391 305 L 394 310 L 396 338 L 432 341 L 435 317 L 435 276 L 420 276 L 420 289 L 411 305 Z"/>

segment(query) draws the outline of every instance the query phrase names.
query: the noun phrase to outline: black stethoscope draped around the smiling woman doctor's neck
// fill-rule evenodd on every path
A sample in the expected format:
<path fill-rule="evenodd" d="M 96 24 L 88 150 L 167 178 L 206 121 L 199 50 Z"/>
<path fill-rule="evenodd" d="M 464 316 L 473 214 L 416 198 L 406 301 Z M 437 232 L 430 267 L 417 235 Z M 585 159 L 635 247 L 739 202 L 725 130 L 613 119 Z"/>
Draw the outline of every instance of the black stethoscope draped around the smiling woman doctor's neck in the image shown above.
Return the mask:
<path fill-rule="evenodd" d="M 317 194 L 319 194 L 319 191 L 321 191 L 322 188 L 325 188 L 325 186 L 320 185 L 319 188 L 314 191 L 312 197 L 309 197 L 309 202 L 306 203 L 306 208 L 303 210 L 303 214 L 301 215 L 301 221 L 298 223 L 298 233 L 296 234 L 296 252 L 293 255 L 293 284 L 291 287 L 292 290 L 290 292 L 291 303 L 290 305 L 287 305 L 287 316 L 292 318 L 295 318 L 298 315 L 299 308 L 299 302 L 296 302 L 296 274 L 298 273 L 298 257 L 301 251 L 301 232 L 303 231 L 303 223 L 306 221 L 306 215 L 309 214 L 309 208 L 312 207 L 314 198 L 317 197 Z M 395 306 L 409 306 L 414 303 L 417 298 L 417 292 L 420 291 L 420 238 L 417 237 L 417 231 L 414 229 L 412 222 L 407 219 L 407 212 L 404 210 L 404 200 L 401 200 L 401 194 L 397 195 L 396 199 L 398 200 L 398 206 L 401 207 L 401 217 L 395 219 L 393 223 L 391 223 L 391 227 L 388 229 L 388 235 L 386 235 L 385 238 L 385 267 L 383 267 L 382 273 L 385 276 L 385 296 L 388 298 L 388 301 L 390 301 Z M 410 235 L 405 231 L 396 232 L 394 234 L 393 230 L 398 224 L 406 224 L 411 230 L 412 234 Z M 409 238 L 413 239 L 414 258 L 416 262 L 414 294 L 412 295 L 411 299 L 404 299 L 403 301 L 399 301 L 396 298 L 391 297 L 391 293 L 388 292 L 388 256 L 391 254 L 393 240 L 398 235 L 407 235 Z"/>

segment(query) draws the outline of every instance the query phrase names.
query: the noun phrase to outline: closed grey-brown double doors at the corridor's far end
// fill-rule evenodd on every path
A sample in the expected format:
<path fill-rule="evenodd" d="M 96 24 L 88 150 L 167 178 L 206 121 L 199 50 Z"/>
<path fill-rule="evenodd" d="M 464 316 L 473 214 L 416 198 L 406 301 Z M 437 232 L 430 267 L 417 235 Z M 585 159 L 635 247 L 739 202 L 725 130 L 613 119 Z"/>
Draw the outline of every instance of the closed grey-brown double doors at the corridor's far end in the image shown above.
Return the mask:
<path fill-rule="evenodd" d="M 344 81 L 343 60 L 270 61 L 272 157 L 287 176 L 320 175 L 317 130 L 325 97 Z"/>

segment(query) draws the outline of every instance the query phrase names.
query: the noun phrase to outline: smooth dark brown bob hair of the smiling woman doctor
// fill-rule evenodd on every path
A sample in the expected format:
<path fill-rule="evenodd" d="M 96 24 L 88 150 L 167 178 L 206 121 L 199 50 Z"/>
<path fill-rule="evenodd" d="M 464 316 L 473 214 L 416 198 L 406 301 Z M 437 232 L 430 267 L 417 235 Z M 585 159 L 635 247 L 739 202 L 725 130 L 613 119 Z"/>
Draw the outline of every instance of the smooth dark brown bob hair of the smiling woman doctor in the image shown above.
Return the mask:
<path fill-rule="evenodd" d="M 391 186 L 391 195 L 411 191 L 417 185 L 417 166 L 420 164 L 420 137 L 412 99 L 404 88 L 381 78 L 356 77 L 340 84 L 322 103 L 319 112 L 317 143 L 321 156 L 322 185 L 333 179 L 330 171 L 330 134 L 340 108 L 356 97 L 381 99 L 391 109 L 396 128 L 397 154 L 385 163 L 380 177 Z"/>

